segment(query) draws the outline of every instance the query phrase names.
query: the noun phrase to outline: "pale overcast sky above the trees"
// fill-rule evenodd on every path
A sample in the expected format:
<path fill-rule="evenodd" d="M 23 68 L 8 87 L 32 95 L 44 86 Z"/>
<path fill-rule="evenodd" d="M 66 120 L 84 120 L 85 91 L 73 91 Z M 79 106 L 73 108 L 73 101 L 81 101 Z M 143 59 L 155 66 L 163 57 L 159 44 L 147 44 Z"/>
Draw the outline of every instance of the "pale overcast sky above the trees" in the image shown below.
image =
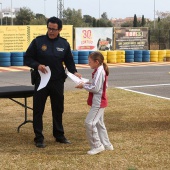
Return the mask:
<path fill-rule="evenodd" d="M 157 18 L 155 11 L 169 12 L 170 0 L 63 0 L 64 9 L 81 9 L 82 15 L 90 15 L 96 19 L 103 12 L 108 19 L 137 17 Z M 12 3 L 11 3 L 12 2 Z M 44 14 L 46 17 L 57 16 L 57 0 L 0 0 L 2 9 L 27 7 L 35 14 Z"/>

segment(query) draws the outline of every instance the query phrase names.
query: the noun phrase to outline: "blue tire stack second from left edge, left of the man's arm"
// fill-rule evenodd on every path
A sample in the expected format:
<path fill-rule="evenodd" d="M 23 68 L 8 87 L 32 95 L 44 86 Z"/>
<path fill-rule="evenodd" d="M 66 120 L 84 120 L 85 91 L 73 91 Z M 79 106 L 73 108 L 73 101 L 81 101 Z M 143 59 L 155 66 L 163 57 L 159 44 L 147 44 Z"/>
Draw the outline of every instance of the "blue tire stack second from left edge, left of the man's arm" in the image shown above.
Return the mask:
<path fill-rule="evenodd" d="M 23 52 L 11 52 L 11 66 L 23 66 L 24 65 L 24 53 Z"/>

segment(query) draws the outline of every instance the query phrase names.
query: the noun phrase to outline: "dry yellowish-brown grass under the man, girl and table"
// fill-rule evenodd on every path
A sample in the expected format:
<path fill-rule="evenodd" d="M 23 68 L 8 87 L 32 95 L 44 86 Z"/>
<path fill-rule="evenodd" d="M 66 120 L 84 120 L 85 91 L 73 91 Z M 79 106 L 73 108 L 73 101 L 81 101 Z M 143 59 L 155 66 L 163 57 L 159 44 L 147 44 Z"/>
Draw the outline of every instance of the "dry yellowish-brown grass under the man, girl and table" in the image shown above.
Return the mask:
<path fill-rule="evenodd" d="M 63 124 L 71 145 L 56 143 L 52 136 L 49 99 L 44 112 L 47 147 L 34 146 L 32 124 L 24 108 L 1 99 L 0 169 L 2 170 L 168 170 L 170 169 L 170 101 L 119 89 L 108 89 L 105 124 L 115 150 L 87 155 L 89 145 L 84 120 L 89 111 L 88 93 L 65 92 Z M 22 101 L 22 99 L 19 99 Z M 32 98 L 28 105 L 32 106 Z M 29 119 L 32 113 L 29 111 Z"/>

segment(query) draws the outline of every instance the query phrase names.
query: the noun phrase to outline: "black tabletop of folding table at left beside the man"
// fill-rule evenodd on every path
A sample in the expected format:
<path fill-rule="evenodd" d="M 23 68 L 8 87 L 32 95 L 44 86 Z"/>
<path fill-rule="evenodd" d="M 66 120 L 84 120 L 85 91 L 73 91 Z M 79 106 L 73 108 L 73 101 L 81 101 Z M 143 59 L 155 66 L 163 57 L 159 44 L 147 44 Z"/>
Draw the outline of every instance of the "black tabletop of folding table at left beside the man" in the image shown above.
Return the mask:
<path fill-rule="evenodd" d="M 0 98 L 25 98 L 34 94 L 34 86 L 0 87 Z"/>

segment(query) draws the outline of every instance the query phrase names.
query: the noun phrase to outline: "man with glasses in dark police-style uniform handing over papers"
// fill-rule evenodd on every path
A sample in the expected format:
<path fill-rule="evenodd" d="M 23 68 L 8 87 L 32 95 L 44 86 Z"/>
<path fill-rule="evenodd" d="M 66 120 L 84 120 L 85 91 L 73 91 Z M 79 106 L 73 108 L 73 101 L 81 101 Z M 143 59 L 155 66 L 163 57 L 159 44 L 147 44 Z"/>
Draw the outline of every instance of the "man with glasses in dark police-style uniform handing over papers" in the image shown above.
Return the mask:
<path fill-rule="evenodd" d="M 62 21 L 51 17 L 47 21 L 47 34 L 35 38 L 24 55 L 25 65 L 37 71 L 35 81 L 35 93 L 33 96 L 33 128 L 35 133 L 34 142 L 39 148 L 44 148 L 43 112 L 47 97 L 50 96 L 53 136 L 56 142 L 69 144 L 70 141 L 64 136 L 62 113 L 64 111 L 64 82 L 66 78 L 63 63 L 69 72 L 81 77 L 77 73 L 70 45 L 66 39 L 60 37 Z M 46 87 L 37 91 L 40 83 L 38 70 L 47 73 L 46 66 L 51 70 L 51 78 Z"/>

